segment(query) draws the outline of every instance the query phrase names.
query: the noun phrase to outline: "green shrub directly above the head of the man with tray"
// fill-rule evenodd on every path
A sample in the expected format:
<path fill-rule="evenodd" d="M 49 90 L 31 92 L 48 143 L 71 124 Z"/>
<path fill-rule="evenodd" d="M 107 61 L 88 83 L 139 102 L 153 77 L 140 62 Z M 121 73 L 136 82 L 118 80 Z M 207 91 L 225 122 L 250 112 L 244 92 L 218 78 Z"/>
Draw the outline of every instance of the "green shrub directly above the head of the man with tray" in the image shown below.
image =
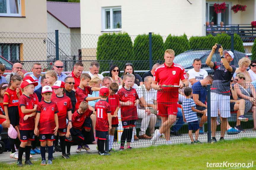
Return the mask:
<path fill-rule="evenodd" d="M 183 53 L 184 51 L 190 50 L 187 35 L 184 34 L 182 36 L 172 36 L 169 34 L 164 43 L 164 51 L 167 49 L 173 49 L 175 56 Z"/>

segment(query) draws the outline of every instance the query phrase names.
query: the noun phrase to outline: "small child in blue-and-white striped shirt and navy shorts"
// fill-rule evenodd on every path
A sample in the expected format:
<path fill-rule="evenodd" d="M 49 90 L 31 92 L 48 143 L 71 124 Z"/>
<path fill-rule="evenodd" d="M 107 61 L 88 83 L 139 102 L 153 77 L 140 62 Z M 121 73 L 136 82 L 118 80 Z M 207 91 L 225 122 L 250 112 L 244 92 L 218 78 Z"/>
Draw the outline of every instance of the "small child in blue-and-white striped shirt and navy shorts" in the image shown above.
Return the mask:
<path fill-rule="evenodd" d="M 184 89 L 184 94 L 186 96 L 186 99 L 182 102 L 182 114 L 184 117 L 184 122 L 187 122 L 188 124 L 188 134 L 191 139 L 191 144 L 199 144 L 201 143 L 198 140 L 199 135 L 199 122 L 198 118 L 196 116 L 196 112 L 206 114 L 207 109 L 200 111 L 197 110 L 195 107 L 195 102 L 191 98 L 193 94 L 193 90 L 190 87 L 187 87 Z M 195 130 L 195 140 L 193 139 L 192 131 Z"/>

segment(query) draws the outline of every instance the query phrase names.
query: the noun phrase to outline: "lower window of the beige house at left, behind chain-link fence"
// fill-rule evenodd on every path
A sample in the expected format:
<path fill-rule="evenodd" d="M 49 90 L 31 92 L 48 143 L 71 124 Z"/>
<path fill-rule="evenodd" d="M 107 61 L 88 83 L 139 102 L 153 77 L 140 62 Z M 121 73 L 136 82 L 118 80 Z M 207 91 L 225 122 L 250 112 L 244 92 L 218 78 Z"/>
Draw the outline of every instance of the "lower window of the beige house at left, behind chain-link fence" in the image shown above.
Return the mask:
<path fill-rule="evenodd" d="M 20 59 L 20 44 L 0 44 L 0 55 L 8 61 L 15 63 L 16 60 Z"/>

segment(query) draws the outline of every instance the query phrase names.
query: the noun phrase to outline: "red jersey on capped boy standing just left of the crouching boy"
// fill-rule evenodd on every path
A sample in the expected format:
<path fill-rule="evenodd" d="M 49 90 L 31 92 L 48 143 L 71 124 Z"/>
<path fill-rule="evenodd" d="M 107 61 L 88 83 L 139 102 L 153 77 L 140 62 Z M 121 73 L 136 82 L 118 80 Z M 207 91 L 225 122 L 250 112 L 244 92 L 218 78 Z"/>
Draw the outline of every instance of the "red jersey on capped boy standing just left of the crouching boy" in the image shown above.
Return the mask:
<path fill-rule="evenodd" d="M 57 95 L 51 98 L 51 101 L 57 103 L 58 107 L 58 120 L 59 120 L 59 129 L 64 129 L 67 127 L 66 117 L 67 111 L 72 110 L 72 104 L 69 97 L 63 95 L 62 97 L 58 97 Z"/>

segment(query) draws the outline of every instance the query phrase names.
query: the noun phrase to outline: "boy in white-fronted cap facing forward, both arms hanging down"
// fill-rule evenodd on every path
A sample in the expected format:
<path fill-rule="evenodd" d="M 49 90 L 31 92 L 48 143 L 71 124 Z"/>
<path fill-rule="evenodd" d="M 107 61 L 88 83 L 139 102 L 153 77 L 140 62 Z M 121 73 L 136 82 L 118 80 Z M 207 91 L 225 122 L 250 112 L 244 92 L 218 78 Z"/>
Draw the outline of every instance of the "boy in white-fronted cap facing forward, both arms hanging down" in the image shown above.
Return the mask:
<path fill-rule="evenodd" d="M 46 143 L 48 145 L 48 161 L 47 165 L 52 164 L 53 157 L 53 141 L 55 140 L 54 134 L 58 132 L 58 107 L 57 103 L 51 101 L 53 90 L 50 86 L 46 85 L 42 88 L 43 101 L 37 105 L 37 114 L 34 134 L 37 135 L 37 126 L 39 124 L 39 141 L 41 141 L 41 165 L 46 165 L 45 152 Z"/>

